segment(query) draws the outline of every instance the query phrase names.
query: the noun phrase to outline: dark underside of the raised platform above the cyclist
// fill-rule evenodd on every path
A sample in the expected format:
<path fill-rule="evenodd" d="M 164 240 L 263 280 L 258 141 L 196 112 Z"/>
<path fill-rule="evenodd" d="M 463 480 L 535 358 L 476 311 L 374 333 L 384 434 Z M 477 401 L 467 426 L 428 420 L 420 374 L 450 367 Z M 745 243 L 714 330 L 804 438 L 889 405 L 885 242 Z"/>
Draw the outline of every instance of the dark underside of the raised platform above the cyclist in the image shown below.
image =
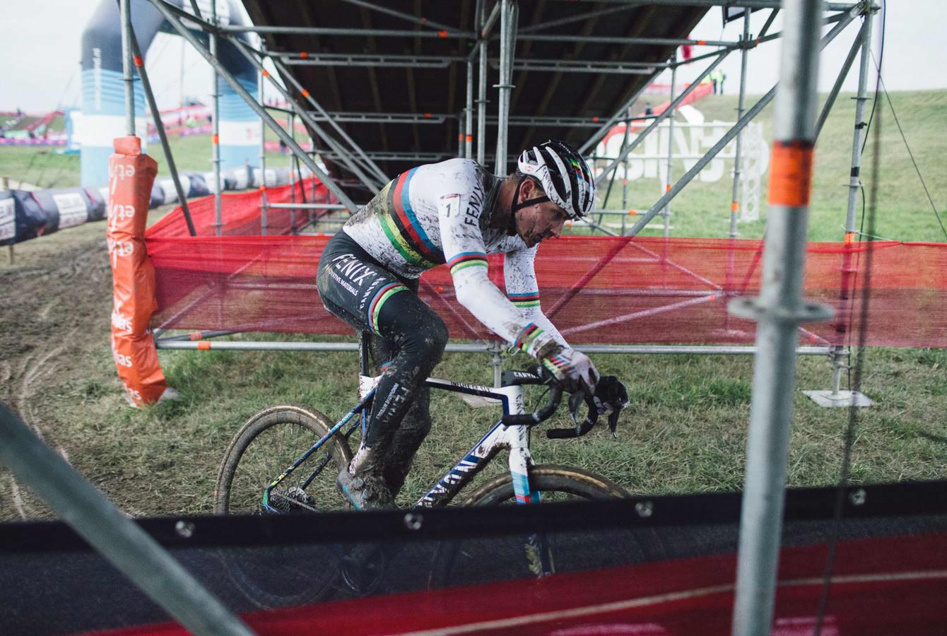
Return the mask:
<path fill-rule="evenodd" d="M 257 26 L 317 26 L 350 29 L 397 29 L 418 33 L 437 31 L 400 17 L 357 6 L 346 0 L 243 0 Z M 424 2 L 420 0 L 380 0 L 375 3 L 433 23 L 474 31 L 474 0 Z M 488 2 L 488 10 L 492 8 Z M 562 62 L 664 62 L 673 52 L 673 44 L 600 44 L 572 40 L 535 41 L 528 35 L 683 38 L 708 10 L 693 7 L 614 3 L 521 0 L 516 60 Z M 611 12 L 534 33 L 529 26 L 612 9 Z M 499 82 L 496 58 L 499 54 L 499 20 L 491 31 L 488 65 L 487 163 L 493 165 L 497 127 L 496 94 Z M 431 38 L 375 35 L 299 35 L 266 34 L 271 53 L 307 52 L 386 56 L 434 56 L 466 58 L 474 46 L 467 38 Z M 367 152 L 435 153 L 443 158 L 457 155 L 460 115 L 467 99 L 466 62 L 450 62 L 442 68 L 369 67 L 347 63 L 331 66 L 290 65 L 290 71 L 305 89 L 331 113 L 432 114 L 450 115 L 439 123 L 344 123 L 345 131 Z M 474 98 L 477 66 L 474 63 Z M 651 75 L 601 72 L 562 72 L 514 70 L 509 115 L 518 123 L 509 127 L 509 153 L 517 153 L 529 144 L 559 138 L 577 147 L 596 128 L 567 127 L 562 124 L 531 121 L 537 117 L 581 117 L 592 123 L 615 114 Z M 438 121 L 436 116 L 432 121 Z M 490 120 L 488 120 L 490 121 Z M 474 117 L 474 133 L 476 118 Z M 321 147 L 320 142 L 316 142 Z M 474 139 L 474 149 L 476 141 Z M 474 150 L 475 153 L 475 150 Z M 389 176 L 417 165 L 417 160 L 379 161 Z M 350 175 L 334 162 L 327 161 L 336 177 Z"/>

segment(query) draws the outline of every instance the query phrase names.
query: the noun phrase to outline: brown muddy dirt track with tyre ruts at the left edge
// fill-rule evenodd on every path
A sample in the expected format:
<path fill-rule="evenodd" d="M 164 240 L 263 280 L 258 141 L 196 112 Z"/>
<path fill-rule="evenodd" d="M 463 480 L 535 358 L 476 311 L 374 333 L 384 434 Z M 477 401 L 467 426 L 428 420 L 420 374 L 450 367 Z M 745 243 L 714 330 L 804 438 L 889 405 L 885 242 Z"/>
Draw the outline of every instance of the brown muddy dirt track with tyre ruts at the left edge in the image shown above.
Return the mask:
<path fill-rule="evenodd" d="M 77 385 L 77 361 L 108 346 L 112 276 L 104 223 L 34 239 L 0 254 L 0 401 L 46 443 L 69 457 L 51 391 Z M 110 361 L 104 361 L 107 363 Z M 41 503 L 0 471 L 0 520 L 48 515 Z"/>

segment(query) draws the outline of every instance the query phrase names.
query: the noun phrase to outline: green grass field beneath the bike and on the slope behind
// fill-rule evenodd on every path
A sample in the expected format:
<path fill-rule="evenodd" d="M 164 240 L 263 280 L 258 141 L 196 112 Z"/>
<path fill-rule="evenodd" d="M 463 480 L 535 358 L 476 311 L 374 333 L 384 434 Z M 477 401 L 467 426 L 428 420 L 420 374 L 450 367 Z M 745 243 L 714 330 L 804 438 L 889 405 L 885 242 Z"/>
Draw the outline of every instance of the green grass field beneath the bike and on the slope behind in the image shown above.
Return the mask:
<path fill-rule="evenodd" d="M 839 97 L 816 150 L 810 239 L 837 240 L 843 233 L 853 121 L 849 97 Z M 947 208 L 947 180 L 938 170 L 947 150 L 947 135 L 940 130 L 947 115 L 947 91 L 891 97 L 938 209 Z M 708 119 L 731 120 L 734 106 L 735 98 L 729 96 L 700 102 Z M 879 104 L 882 107 L 886 103 Z M 762 115 L 765 130 L 771 108 Z M 878 233 L 902 240 L 947 240 L 920 189 L 890 111 L 883 116 Z M 872 151 L 869 145 L 866 166 Z M 208 168 L 206 140 L 176 140 L 175 157 L 181 168 Z M 276 157 L 281 159 L 285 158 Z M 78 183 L 78 169 L 75 157 L 0 148 L 0 175 L 63 186 L 72 178 L 69 175 Z M 863 175 L 867 182 L 867 168 Z M 729 187 L 725 179 L 690 186 L 673 203 L 672 236 L 725 236 Z M 641 188 L 656 192 L 653 183 Z M 637 207 L 648 203 L 634 201 Z M 162 212 L 152 213 L 152 221 Z M 740 229 L 744 237 L 759 237 L 762 227 L 760 221 Z M 223 451 L 249 416 L 277 403 L 302 404 L 331 418 L 348 411 L 356 392 L 352 354 L 223 351 L 162 351 L 170 385 L 182 397 L 145 409 L 127 408 L 109 352 L 111 296 L 103 234 L 102 223 L 90 223 L 18 245 L 13 266 L 0 255 L 0 282 L 25 285 L 31 277 L 44 275 L 49 293 L 55 293 L 58 277 L 68 275 L 62 268 L 81 257 L 91 258 L 89 275 L 83 274 L 83 280 L 88 279 L 82 282 L 88 289 L 85 304 L 63 308 L 56 324 L 40 323 L 51 333 L 78 334 L 56 339 L 60 352 L 46 362 L 58 363 L 56 372 L 43 376 L 37 371 L 27 382 L 17 380 L 18 367 L 0 363 L 0 379 L 9 383 L 7 397 L 0 394 L 0 399 L 7 401 L 28 388 L 28 409 L 21 407 L 21 412 L 118 505 L 134 515 L 209 512 Z M 50 269 L 51 261 L 60 263 L 61 269 Z M 48 318 L 48 303 L 36 295 L 42 294 L 24 292 L 17 302 L 34 303 L 34 313 Z M 52 309 L 52 314 L 58 310 Z M 0 327 L 0 331 L 27 328 L 6 322 Z M 259 339 L 259 335 L 248 337 Z M 11 333 L 0 333 L 0 346 L 5 355 L 40 359 Z M 506 366 L 527 362 L 514 358 Z M 595 362 L 603 373 L 615 374 L 629 386 L 631 407 L 619 424 L 618 440 L 613 441 L 604 427 L 581 440 L 548 441 L 536 434 L 538 462 L 588 468 L 635 493 L 742 487 L 751 358 L 601 355 Z M 491 382 L 487 359 L 479 355 L 447 355 L 435 375 Z M 831 367 L 821 358 L 802 358 L 797 376 L 799 389 L 829 388 Z M 853 479 L 869 483 L 947 478 L 947 350 L 870 349 L 864 390 L 877 405 L 859 413 Z M 496 416 L 495 410 L 474 410 L 449 395 L 435 395 L 432 413 L 434 430 L 420 450 L 402 503 L 419 496 Z M 792 486 L 836 482 L 848 418 L 846 409 L 821 409 L 796 392 L 789 463 Z M 552 425 L 566 423 L 560 417 Z M 491 468 L 502 470 L 504 462 Z M 35 498 L 14 493 L 10 485 L 9 475 L 0 474 L 0 519 L 48 514 Z M 11 503 L 16 498 L 19 503 Z"/>

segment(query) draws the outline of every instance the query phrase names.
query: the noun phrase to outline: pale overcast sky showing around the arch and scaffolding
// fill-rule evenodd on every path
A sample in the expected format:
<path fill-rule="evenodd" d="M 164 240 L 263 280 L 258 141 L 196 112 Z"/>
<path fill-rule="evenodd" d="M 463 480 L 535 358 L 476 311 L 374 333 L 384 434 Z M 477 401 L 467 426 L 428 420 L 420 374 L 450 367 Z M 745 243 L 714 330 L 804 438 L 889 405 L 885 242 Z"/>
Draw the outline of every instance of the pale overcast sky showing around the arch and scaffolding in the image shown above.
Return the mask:
<path fill-rule="evenodd" d="M 947 47 L 938 44 L 947 18 L 947 2 L 893 0 L 889 5 L 883 76 L 888 90 L 947 88 Z M 0 110 L 19 107 L 27 113 L 45 113 L 57 107 L 80 105 L 80 40 L 82 29 L 97 6 L 98 0 L 42 0 L 29 5 L 0 0 L 0 25 L 4 26 L 0 30 Z M 753 14 L 751 32 L 759 32 L 768 14 L 768 10 Z M 395 27 L 398 22 L 392 18 L 390 26 Z M 737 40 L 742 33 L 742 21 L 726 27 L 722 23 L 721 9 L 710 9 L 691 35 L 695 39 Z M 876 21 L 876 33 L 881 30 L 879 23 Z M 770 32 L 780 27 L 781 20 L 777 18 Z M 857 29 L 855 25 L 849 26 L 826 49 L 820 64 L 821 91 L 831 88 Z M 182 95 L 205 100 L 210 93 L 209 67 L 182 42 L 179 37 L 159 34 L 145 56 L 162 109 L 176 106 Z M 777 40 L 750 52 L 750 94 L 766 92 L 776 80 L 780 45 Z M 701 52 L 700 48 L 695 50 Z M 700 63 L 679 71 L 678 81 L 693 79 L 701 70 Z M 727 76 L 726 92 L 736 93 L 740 81 L 739 53 L 731 54 L 721 67 Z M 855 90 L 857 68 L 856 60 L 844 90 Z"/>

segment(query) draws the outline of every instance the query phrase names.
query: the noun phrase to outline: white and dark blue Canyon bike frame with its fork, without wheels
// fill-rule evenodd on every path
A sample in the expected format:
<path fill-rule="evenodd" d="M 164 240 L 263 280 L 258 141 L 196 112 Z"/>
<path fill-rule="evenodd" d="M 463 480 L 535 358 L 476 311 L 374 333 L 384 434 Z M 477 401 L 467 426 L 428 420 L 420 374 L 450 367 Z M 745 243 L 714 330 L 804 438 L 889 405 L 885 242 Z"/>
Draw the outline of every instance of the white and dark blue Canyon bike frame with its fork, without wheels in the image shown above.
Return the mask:
<path fill-rule="evenodd" d="M 322 448 L 332 435 L 339 433 L 339 431 L 345 428 L 356 416 L 361 416 L 362 422 L 366 421 L 379 380 L 381 380 L 381 376 L 359 377 L 359 394 L 362 396 L 359 403 L 349 411 L 347 415 L 336 422 L 329 433 L 326 433 L 322 438 L 316 441 L 309 450 L 295 460 L 291 467 L 286 468 L 282 474 L 267 486 L 263 493 L 262 500 L 264 510 L 279 513 L 280 511 L 270 504 L 270 493 L 273 488 L 292 474 L 296 468 L 299 468 L 313 452 Z M 503 406 L 503 415 L 522 415 L 525 413 L 522 386 L 514 385 L 492 388 L 489 386 L 438 380 L 434 378 L 425 380 L 424 383 L 428 387 L 442 391 L 496 399 L 500 401 Z M 490 431 L 474 444 L 471 450 L 438 479 L 438 482 L 434 486 L 431 486 L 427 493 L 415 503 L 414 507 L 433 508 L 450 503 L 457 492 L 469 484 L 471 480 L 491 462 L 496 454 L 504 449 L 509 449 L 509 474 L 512 478 L 513 493 L 516 496 L 516 502 L 538 503 L 540 501 L 540 493 L 529 486 L 529 467 L 533 464 L 532 455 L 529 452 L 529 427 L 506 426 L 503 424 L 501 418 L 496 421 Z M 325 468 L 328 462 L 329 458 L 313 469 L 313 473 L 302 484 L 304 490 L 313 482 L 313 479 Z"/>

